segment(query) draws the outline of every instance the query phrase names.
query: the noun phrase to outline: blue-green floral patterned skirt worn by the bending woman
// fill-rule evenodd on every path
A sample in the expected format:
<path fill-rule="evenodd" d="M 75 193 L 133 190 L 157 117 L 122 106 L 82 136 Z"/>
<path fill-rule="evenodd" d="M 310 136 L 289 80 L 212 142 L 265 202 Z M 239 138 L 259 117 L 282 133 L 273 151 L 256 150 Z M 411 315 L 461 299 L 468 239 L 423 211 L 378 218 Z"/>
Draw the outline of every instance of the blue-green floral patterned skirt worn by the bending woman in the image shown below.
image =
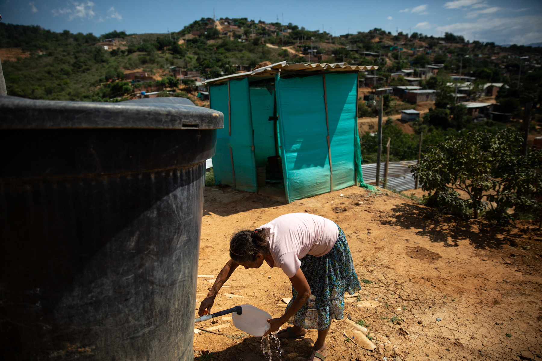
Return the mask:
<path fill-rule="evenodd" d="M 339 237 L 331 251 L 322 257 L 307 254 L 301 259 L 301 271 L 305 274 L 311 287 L 311 297 L 295 313 L 293 324 L 304 329 L 325 330 L 331 319 L 342 319 L 344 311 L 344 293 L 361 290 L 358 276 L 346 236 L 339 226 Z M 295 297 L 298 296 L 292 287 L 292 300 L 286 307 L 288 310 Z"/>

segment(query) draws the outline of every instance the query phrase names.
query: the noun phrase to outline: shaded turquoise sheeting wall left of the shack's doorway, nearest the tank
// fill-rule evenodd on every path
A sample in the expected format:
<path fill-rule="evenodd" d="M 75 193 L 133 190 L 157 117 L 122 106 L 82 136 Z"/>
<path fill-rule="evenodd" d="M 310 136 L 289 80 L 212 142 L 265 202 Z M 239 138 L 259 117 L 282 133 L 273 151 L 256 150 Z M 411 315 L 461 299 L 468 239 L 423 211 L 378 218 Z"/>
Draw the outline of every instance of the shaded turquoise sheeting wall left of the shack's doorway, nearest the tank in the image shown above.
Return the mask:
<path fill-rule="evenodd" d="M 211 108 L 224 113 L 224 128 L 217 129 L 216 154 L 212 157 L 215 181 L 235 189 L 257 192 L 248 79 L 229 81 L 231 119 L 228 111 L 228 83 L 211 86 L 209 91 Z"/>

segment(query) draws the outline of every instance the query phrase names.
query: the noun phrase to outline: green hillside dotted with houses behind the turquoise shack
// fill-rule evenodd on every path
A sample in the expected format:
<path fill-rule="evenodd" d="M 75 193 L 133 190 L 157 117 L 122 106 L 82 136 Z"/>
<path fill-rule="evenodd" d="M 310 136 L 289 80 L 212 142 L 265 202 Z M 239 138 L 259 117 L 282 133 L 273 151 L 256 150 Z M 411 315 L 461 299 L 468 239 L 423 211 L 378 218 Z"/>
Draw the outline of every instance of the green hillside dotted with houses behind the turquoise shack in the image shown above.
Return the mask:
<path fill-rule="evenodd" d="M 542 48 L 465 41 L 383 29 L 334 36 L 294 24 L 202 18 L 167 34 L 101 36 L 0 23 L 8 94 L 30 99 L 118 102 L 179 96 L 209 107 L 207 80 L 279 62 L 373 65 L 358 76 L 364 162 L 374 162 L 378 101 L 393 161 L 422 152 L 462 129 L 522 127 L 533 103 L 530 142 L 538 134 Z M 384 90 L 382 90 L 384 89 Z"/>

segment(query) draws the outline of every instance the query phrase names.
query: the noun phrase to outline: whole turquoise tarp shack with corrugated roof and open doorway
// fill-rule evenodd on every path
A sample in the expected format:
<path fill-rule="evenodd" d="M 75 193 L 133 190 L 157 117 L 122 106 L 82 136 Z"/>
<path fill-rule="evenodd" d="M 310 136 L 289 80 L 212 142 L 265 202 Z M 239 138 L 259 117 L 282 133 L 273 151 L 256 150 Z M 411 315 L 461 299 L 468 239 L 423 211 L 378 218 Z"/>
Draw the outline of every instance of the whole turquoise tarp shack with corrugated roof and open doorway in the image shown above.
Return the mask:
<path fill-rule="evenodd" d="M 288 202 L 364 185 L 357 80 L 377 68 L 281 62 L 208 80 L 210 107 L 224 113 L 216 183 L 258 192 L 266 169 Z"/>

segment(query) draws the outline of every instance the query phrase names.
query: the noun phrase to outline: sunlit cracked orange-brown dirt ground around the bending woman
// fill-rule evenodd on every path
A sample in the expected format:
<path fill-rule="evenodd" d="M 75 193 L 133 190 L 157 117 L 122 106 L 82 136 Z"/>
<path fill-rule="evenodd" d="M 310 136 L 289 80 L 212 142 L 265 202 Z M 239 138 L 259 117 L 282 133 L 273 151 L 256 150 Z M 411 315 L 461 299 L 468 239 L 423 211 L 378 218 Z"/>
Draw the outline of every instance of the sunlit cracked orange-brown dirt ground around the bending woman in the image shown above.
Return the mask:
<path fill-rule="evenodd" d="M 358 200 L 363 204 L 354 205 Z M 206 187 L 198 274 L 207 277 L 198 278 L 196 307 L 228 261 L 233 233 L 292 212 L 337 222 L 347 235 L 358 277 L 366 280 L 360 296 L 348 298 L 344 313 L 370 324 L 378 348 L 360 348 L 344 336 L 343 330 L 349 330 L 345 321 L 333 321 L 327 360 L 542 358 L 538 224 L 519 221 L 517 228 L 499 228 L 438 216 L 385 190 L 350 187 L 283 205 L 259 194 Z M 257 270 L 238 268 L 216 297 L 213 311 L 251 304 L 279 317 L 286 307 L 282 298 L 291 295 L 291 284 L 280 270 L 265 264 Z M 367 307 L 367 301 L 376 307 Z M 225 333 L 195 334 L 197 360 L 267 359 L 260 337 L 237 330 L 228 317 L 217 320 L 197 324 Z M 309 330 L 304 339 L 282 340 L 281 355 L 275 350 L 273 359 L 306 360 L 316 338 L 317 332 Z"/>

